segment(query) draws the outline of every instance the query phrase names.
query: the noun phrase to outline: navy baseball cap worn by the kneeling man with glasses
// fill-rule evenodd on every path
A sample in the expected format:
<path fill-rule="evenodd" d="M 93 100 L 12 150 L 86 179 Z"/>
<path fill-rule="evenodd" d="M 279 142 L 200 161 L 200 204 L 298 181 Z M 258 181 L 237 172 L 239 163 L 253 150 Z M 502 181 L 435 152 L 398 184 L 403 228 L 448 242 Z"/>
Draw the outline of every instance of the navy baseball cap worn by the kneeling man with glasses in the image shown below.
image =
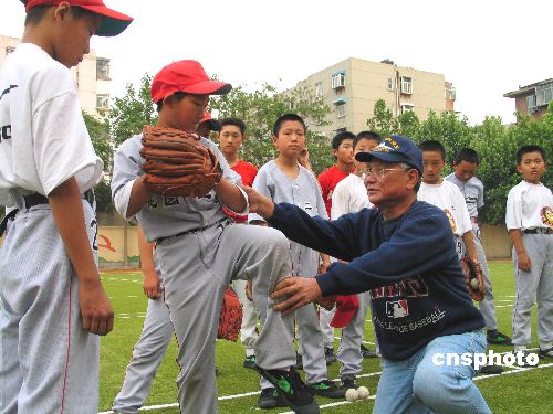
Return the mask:
<path fill-rule="evenodd" d="M 409 138 L 392 135 L 372 151 L 357 152 L 355 156 L 359 162 L 369 162 L 374 158 L 384 162 L 405 162 L 422 174 L 422 153 Z"/>

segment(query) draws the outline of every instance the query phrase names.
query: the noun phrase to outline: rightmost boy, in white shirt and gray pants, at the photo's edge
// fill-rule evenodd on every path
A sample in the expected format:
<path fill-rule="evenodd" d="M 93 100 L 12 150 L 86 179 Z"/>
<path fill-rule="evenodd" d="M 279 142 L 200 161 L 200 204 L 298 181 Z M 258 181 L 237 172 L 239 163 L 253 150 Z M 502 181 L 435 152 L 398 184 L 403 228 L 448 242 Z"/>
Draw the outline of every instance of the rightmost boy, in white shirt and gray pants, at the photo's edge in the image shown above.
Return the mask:
<path fill-rule="evenodd" d="M 522 181 L 509 191 L 505 224 L 513 242 L 517 299 L 513 307 L 514 351 L 532 341 L 532 307 L 538 301 L 539 354 L 553 358 L 553 195 L 540 181 L 545 150 L 535 145 L 517 151 Z"/>

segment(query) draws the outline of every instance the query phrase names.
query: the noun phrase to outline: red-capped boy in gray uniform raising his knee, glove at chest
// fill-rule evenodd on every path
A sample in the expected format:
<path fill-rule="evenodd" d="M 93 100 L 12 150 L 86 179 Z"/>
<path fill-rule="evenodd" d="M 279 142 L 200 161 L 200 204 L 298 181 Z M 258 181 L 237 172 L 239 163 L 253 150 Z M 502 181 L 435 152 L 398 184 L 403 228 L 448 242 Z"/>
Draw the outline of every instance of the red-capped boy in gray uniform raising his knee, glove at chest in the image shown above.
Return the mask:
<path fill-rule="evenodd" d="M 196 61 L 165 66 L 152 83 L 158 125 L 195 131 L 209 95 L 226 94 L 231 85 L 211 81 Z M 273 311 L 269 294 L 290 276 L 289 244 L 281 233 L 232 224 L 223 212 L 248 212 L 243 190 L 232 183 L 229 166 L 217 146 L 200 142 L 218 158 L 223 178 L 204 198 L 161 197 L 144 185 L 139 151 L 142 135 L 116 151 L 112 194 L 126 219 L 137 215 L 148 242 L 156 242 L 156 261 L 164 280 L 179 352 L 178 400 L 182 413 L 218 412 L 215 384 L 215 340 L 221 299 L 233 278 L 251 279 L 262 329 L 255 343 L 258 370 L 279 386 L 286 405 L 298 413 L 319 413 L 313 396 L 291 368 L 293 319 Z"/>

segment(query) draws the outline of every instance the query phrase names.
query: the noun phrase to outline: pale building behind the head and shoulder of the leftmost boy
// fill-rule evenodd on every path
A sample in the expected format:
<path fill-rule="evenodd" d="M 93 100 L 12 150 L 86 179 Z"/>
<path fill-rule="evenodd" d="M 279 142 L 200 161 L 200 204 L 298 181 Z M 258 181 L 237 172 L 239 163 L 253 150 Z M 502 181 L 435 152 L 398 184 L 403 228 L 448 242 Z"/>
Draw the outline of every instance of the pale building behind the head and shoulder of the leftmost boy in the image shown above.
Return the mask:
<path fill-rule="evenodd" d="M 0 35 L 0 67 L 20 40 Z M 109 110 L 109 59 L 100 57 L 94 50 L 84 56 L 83 62 L 71 70 L 79 91 L 83 110 L 93 116 L 105 116 Z"/>

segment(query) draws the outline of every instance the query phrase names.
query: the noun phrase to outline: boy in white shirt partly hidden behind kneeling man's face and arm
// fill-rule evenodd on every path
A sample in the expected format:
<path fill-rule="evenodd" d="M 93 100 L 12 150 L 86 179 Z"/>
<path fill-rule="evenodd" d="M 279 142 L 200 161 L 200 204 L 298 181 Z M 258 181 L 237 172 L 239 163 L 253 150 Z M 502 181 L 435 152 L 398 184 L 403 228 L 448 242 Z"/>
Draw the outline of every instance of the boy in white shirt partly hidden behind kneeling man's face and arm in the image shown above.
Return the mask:
<path fill-rule="evenodd" d="M 380 142 L 380 137 L 374 132 L 358 134 L 354 141 L 355 171 L 340 181 L 332 194 L 331 220 L 344 214 L 356 213 L 363 209 L 371 209 L 367 189 L 363 180 L 365 162 L 357 161 L 358 152 L 369 152 Z M 362 371 L 363 352 L 362 340 L 365 331 L 365 319 L 371 307 L 369 293 L 357 294 L 358 308 L 353 318 L 342 329 L 337 360 L 342 363 L 340 376 L 345 390 L 357 388 L 355 375 Z M 337 310 L 336 314 L 340 311 Z M 374 353 L 376 357 L 376 353 Z"/>

